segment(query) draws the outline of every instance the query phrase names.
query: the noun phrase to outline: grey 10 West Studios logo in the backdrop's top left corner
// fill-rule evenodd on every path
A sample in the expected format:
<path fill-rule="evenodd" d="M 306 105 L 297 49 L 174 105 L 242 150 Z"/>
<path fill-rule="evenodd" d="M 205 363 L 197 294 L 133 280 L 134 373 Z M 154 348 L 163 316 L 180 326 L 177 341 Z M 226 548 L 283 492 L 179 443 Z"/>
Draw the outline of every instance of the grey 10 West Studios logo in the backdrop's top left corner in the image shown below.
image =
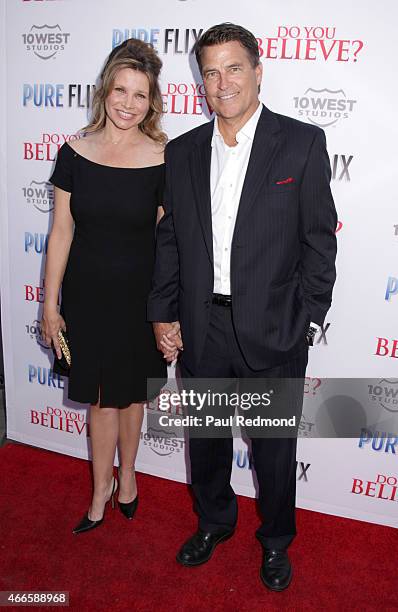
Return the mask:
<path fill-rule="evenodd" d="M 70 32 L 63 32 L 61 26 L 55 25 L 32 25 L 29 32 L 22 34 L 23 44 L 27 51 L 42 60 L 55 57 L 60 51 L 64 51 L 69 43 Z"/>

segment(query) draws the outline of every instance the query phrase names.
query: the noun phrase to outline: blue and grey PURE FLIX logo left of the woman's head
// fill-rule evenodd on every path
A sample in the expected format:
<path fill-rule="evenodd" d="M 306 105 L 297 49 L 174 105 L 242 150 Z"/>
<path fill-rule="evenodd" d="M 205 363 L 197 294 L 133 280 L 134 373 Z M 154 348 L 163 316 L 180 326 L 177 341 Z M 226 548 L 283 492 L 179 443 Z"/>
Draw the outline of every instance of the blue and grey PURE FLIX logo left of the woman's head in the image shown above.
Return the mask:
<path fill-rule="evenodd" d="M 95 85 L 89 83 L 24 83 L 22 105 L 37 108 L 89 108 Z"/>

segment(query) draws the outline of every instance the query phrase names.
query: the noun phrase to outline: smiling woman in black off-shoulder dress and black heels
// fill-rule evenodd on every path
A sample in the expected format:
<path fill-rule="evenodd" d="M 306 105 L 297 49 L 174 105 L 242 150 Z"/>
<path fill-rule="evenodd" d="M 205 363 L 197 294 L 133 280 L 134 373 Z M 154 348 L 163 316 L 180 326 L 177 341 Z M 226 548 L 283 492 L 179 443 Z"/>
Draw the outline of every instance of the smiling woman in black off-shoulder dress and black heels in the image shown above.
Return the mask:
<path fill-rule="evenodd" d="M 164 182 L 161 65 L 154 49 L 139 40 L 112 51 L 84 138 L 61 147 L 50 179 L 55 214 L 43 333 L 60 358 L 58 332 L 66 330 L 69 398 L 90 404 L 94 491 L 74 533 L 99 526 L 111 497 L 113 505 L 117 444 L 119 508 L 133 517 L 143 403 L 156 395 L 147 390 L 147 378 L 166 378 L 166 363 L 146 322 Z"/>

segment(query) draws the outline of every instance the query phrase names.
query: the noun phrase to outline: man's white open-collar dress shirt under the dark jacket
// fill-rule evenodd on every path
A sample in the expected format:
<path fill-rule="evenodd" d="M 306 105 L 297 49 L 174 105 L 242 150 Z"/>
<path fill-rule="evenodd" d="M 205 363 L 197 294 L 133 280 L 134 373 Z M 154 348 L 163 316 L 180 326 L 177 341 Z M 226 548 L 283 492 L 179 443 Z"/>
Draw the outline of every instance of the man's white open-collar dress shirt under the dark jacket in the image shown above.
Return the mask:
<path fill-rule="evenodd" d="M 214 121 L 211 140 L 210 193 L 213 228 L 214 293 L 231 294 L 231 243 L 238 213 L 239 200 L 252 150 L 254 133 L 262 111 L 256 111 L 237 132 L 237 144 L 225 144 Z"/>

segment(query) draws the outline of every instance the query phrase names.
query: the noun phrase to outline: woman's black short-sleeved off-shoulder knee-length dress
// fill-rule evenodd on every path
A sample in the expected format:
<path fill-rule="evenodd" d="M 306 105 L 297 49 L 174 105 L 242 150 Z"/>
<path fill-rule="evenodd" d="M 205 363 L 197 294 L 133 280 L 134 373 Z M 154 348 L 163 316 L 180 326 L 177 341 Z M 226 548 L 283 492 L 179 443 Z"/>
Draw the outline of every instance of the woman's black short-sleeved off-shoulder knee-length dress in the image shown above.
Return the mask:
<path fill-rule="evenodd" d="M 75 232 L 62 283 L 72 365 L 68 397 L 128 406 L 156 395 L 147 379 L 167 367 L 146 321 L 164 164 L 113 168 L 68 144 L 58 152 L 51 183 L 71 193 Z M 55 367 L 56 369 L 56 367 Z"/>

